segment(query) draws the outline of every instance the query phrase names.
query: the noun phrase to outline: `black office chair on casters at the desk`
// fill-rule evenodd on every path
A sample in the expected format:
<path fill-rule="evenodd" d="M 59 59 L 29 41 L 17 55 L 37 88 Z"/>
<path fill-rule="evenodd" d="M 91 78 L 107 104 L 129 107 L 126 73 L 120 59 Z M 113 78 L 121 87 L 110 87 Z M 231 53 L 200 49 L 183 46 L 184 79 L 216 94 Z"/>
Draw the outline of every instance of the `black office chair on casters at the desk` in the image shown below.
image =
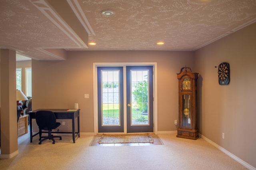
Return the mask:
<path fill-rule="evenodd" d="M 60 138 L 62 140 L 61 136 L 52 135 L 52 129 L 60 126 L 60 123 L 56 122 L 56 117 L 52 111 L 37 111 L 36 123 L 39 128 L 39 144 L 46 139 L 51 139 L 53 141 L 52 144 L 55 144 L 54 138 Z M 42 130 L 48 130 L 48 136 L 42 136 Z"/>

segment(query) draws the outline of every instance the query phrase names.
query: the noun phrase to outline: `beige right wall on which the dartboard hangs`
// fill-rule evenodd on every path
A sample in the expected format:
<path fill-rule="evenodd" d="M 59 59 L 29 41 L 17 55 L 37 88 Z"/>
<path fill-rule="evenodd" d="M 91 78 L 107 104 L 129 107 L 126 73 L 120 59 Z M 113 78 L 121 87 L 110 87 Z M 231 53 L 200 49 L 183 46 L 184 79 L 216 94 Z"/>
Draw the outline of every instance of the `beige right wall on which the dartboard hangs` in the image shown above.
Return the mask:
<path fill-rule="evenodd" d="M 200 133 L 256 167 L 256 23 L 195 55 L 202 80 L 198 91 Z M 230 64 L 229 85 L 218 84 L 215 66 L 222 62 Z"/>

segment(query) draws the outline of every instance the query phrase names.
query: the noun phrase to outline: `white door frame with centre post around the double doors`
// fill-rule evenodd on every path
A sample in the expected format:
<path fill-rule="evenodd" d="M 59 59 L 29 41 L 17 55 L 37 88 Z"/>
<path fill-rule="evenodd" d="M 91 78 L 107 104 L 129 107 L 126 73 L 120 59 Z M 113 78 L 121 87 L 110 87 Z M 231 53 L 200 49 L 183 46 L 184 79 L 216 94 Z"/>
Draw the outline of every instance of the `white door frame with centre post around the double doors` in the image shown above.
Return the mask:
<path fill-rule="evenodd" d="M 94 135 L 98 134 L 98 90 L 97 67 L 123 67 L 124 68 L 124 106 L 126 106 L 126 66 L 152 65 L 153 66 L 153 97 L 154 97 L 154 133 L 157 134 L 157 63 L 93 63 L 93 106 L 94 106 Z M 127 133 L 127 113 L 124 107 L 124 134 Z"/>

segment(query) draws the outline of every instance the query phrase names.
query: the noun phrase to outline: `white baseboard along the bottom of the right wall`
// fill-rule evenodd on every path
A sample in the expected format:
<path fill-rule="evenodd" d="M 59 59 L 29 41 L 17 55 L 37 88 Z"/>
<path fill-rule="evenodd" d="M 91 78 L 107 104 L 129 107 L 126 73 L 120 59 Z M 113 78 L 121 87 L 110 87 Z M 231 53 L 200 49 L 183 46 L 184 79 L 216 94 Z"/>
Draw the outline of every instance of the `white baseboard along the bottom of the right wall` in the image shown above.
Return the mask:
<path fill-rule="evenodd" d="M 222 148 L 221 146 L 219 146 L 218 144 L 216 144 L 215 142 L 212 142 L 212 140 L 206 138 L 204 135 L 200 134 L 201 138 L 206 140 L 206 142 L 212 144 L 214 147 L 216 147 L 217 149 L 219 149 L 220 151 L 222 151 L 224 154 L 228 155 L 230 158 L 234 159 L 236 162 L 242 164 L 243 166 L 245 166 L 246 168 L 248 168 L 249 170 L 256 170 L 255 167 L 251 166 L 250 164 L 248 164 L 247 162 L 244 162 L 242 159 L 238 158 L 237 156 L 235 156 L 234 154 L 228 152 L 226 149 Z"/>

